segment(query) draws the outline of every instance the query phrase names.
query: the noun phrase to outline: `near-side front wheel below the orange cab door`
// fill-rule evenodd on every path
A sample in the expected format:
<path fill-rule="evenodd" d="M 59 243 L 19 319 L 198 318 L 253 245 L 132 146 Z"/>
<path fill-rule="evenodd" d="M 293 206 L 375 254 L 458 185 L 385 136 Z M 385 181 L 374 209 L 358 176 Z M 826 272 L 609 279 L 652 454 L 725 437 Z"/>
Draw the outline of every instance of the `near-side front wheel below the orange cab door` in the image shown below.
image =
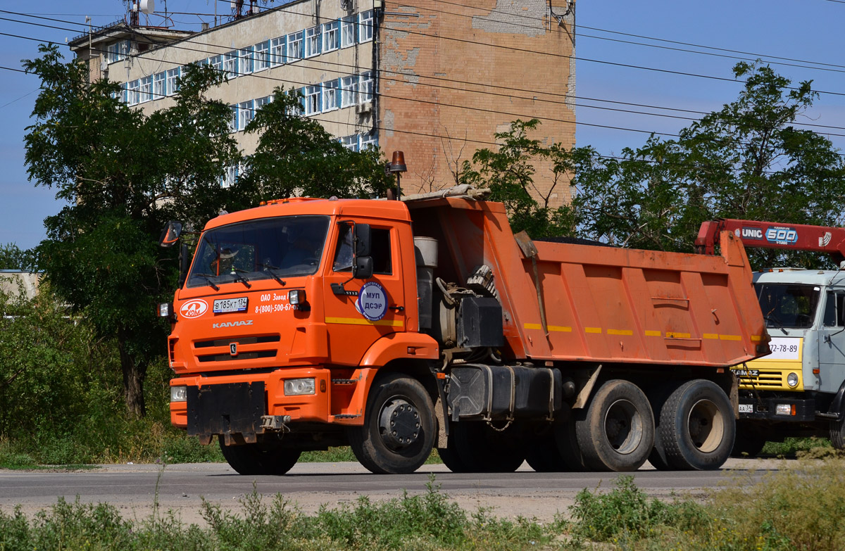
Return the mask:
<path fill-rule="evenodd" d="M 369 471 L 405 474 L 428 459 L 435 433 L 434 406 L 423 385 L 387 374 L 373 383 L 364 424 L 350 428 L 349 444 Z"/>

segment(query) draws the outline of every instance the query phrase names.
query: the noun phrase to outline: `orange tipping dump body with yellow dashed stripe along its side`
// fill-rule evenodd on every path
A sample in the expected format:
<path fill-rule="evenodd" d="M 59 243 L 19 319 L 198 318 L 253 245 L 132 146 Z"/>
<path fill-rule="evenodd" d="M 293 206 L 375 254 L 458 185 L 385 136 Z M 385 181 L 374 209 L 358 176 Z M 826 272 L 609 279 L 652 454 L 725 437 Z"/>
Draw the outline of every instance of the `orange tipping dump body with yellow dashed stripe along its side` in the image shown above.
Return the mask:
<path fill-rule="evenodd" d="M 412 204 L 415 235 L 436 237 L 444 277 L 493 268 L 504 336 L 515 358 L 728 367 L 767 353 L 744 249 L 722 256 L 536 241 L 548 337 L 532 276 L 503 205 L 466 199 Z"/>

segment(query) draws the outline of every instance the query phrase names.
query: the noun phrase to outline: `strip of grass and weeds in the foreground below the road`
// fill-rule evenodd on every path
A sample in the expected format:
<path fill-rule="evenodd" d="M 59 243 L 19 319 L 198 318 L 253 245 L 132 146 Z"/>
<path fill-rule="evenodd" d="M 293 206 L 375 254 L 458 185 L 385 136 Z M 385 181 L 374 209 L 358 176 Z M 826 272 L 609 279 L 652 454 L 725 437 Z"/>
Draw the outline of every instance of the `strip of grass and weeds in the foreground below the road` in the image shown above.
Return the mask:
<path fill-rule="evenodd" d="M 749 473 L 726 479 L 704 502 L 662 502 L 620 476 L 613 488 L 585 489 L 570 516 L 542 524 L 467 511 L 432 476 L 420 495 L 374 503 L 366 497 L 306 515 L 279 494 L 253 491 L 235 510 L 203 502 L 205 526 L 184 525 L 157 508 L 128 521 L 106 504 L 59 499 L 28 518 L 0 511 L 0 551 L 18 549 L 261 549 L 435 551 L 619 550 L 837 551 L 845 548 L 845 459 L 804 458 L 762 481 Z"/>

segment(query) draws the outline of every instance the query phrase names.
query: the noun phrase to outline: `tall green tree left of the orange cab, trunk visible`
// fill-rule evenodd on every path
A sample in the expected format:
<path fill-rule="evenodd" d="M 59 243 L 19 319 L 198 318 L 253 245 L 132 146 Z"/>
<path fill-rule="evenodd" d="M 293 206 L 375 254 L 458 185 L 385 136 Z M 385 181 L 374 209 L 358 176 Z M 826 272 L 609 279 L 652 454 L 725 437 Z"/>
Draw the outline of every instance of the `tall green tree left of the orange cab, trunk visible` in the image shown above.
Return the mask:
<path fill-rule="evenodd" d="M 128 412 L 144 415 L 144 377 L 164 350 L 168 325 L 155 316 L 175 287 L 175 251 L 158 248 L 170 219 L 204 223 L 225 207 L 225 166 L 239 152 L 229 108 L 204 92 L 223 77 L 189 66 L 176 105 L 150 117 L 130 109 L 110 82 L 41 46 L 25 68 L 41 78 L 35 123 L 25 136 L 30 181 L 66 205 L 46 219 L 40 267 L 57 294 L 114 338 Z"/>

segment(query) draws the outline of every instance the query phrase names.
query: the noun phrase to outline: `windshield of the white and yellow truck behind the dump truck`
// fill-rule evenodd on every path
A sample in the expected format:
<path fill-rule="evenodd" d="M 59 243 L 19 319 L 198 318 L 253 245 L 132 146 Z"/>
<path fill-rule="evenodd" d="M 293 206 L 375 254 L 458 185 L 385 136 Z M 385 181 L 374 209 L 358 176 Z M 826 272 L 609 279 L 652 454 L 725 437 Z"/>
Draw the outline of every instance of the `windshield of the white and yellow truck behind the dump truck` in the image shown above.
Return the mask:
<path fill-rule="evenodd" d="M 762 283 L 756 288 L 766 327 L 806 329 L 813 325 L 819 287 Z"/>

